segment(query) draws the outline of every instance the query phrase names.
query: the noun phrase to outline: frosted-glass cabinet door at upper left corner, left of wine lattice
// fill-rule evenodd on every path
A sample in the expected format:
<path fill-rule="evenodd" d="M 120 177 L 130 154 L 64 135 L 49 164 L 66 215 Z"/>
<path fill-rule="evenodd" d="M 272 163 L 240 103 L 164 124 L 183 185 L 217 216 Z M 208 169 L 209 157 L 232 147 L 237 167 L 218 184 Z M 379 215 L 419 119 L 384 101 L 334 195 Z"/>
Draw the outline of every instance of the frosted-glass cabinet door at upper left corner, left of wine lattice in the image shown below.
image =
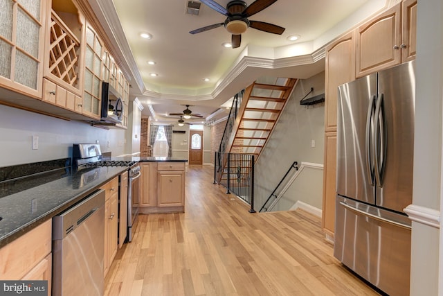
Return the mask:
<path fill-rule="evenodd" d="M 0 87 L 40 99 L 47 1 L 1 2 Z"/>

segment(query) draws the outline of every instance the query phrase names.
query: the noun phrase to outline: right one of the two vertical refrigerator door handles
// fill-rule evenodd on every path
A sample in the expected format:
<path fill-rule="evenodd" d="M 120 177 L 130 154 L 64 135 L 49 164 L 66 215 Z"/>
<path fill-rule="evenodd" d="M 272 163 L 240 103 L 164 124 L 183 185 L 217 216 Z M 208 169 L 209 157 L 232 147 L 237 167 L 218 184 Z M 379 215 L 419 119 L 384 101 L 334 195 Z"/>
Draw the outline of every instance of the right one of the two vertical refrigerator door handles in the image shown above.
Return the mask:
<path fill-rule="evenodd" d="M 376 116 L 376 141 L 374 142 L 374 166 L 375 180 L 379 187 L 383 187 L 383 173 L 386 165 L 386 122 L 383 104 L 383 94 L 377 95 L 377 107 L 375 107 Z"/>

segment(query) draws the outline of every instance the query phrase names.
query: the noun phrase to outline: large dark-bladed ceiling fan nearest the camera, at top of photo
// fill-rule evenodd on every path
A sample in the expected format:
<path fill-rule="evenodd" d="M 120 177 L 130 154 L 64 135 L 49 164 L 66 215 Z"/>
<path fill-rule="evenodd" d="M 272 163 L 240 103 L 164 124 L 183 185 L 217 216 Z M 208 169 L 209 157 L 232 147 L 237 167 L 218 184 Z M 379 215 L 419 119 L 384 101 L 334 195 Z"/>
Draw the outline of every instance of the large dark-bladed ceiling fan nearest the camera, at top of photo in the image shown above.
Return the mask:
<path fill-rule="evenodd" d="M 222 15 L 226 15 L 226 20 L 223 23 L 213 24 L 190 31 L 189 33 L 191 34 L 197 34 L 213 28 L 218 28 L 219 26 L 224 26 L 226 30 L 232 34 L 231 44 L 233 49 L 235 49 L 240 46 L 240 43 L 242 42 L 242 33 L 246 32 L 248 27 L 278 35 L 281 35 L 284 32 L 284 28 L 280 26 L 265 23 L 263 21 L 250 21 L 248 19 L 248 17 L 264 10 L 264 8 L 267 8 L 277 0 L 256 0 L 251 3 L 250 6 L 247 6 L 245 1 L 233 0 L 226 5 L 226 8 L 213 0 L 200 1 L 213 10 L 220 12 Z"/>

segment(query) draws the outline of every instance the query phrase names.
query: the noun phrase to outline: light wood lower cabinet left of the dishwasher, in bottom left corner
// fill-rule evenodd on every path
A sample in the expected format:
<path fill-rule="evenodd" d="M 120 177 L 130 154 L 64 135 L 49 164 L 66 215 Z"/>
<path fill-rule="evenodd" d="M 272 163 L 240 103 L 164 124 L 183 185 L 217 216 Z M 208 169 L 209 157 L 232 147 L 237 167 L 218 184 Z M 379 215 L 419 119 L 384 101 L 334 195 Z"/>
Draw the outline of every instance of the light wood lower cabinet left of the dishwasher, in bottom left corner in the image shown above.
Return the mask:
<path fill-rule="evenodd" d="M 0 249 L 0 279 L 47 280 L 51 295 L 52 220 Z"/>

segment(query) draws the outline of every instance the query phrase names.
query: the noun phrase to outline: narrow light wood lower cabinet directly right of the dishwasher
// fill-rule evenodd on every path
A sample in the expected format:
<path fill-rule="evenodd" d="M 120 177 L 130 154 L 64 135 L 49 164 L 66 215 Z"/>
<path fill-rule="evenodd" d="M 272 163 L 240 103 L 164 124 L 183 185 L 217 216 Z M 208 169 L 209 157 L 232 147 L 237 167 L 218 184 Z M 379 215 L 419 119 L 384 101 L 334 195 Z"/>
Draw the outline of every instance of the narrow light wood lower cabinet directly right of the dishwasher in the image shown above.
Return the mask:
<path fill-rule="evenodd" d="M 104 276 L 107 275 L 118 250 L 118 177 L 107 182 L 105 190 L 105 259 Z"/>

